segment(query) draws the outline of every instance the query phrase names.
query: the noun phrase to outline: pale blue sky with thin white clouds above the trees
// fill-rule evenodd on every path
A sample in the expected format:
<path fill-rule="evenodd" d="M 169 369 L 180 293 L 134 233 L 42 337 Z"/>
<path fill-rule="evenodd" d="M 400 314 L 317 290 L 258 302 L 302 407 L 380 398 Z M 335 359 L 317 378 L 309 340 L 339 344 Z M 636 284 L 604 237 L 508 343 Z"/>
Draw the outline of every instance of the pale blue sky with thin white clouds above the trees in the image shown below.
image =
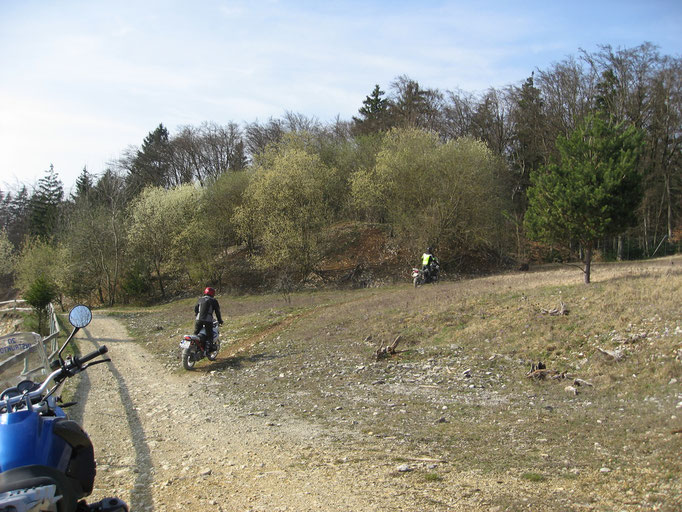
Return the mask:
<path fill-rule="evenodd" d="M 0 188 L 52 163 L 67 190 L 159 123 L 350 119 L 374 84 L 479 92 L 650 41 L 682 54 L 682 0 L 0 0 Z"/>

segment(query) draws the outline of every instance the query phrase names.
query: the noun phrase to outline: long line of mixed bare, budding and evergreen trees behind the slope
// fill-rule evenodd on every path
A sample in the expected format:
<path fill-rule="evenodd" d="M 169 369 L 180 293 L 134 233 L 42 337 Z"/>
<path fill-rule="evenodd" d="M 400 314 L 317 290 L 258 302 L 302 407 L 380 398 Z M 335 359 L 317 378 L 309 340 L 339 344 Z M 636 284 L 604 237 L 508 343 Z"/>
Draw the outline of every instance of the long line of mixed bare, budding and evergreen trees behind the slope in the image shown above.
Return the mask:
<path fill-rule="evenodd" d="M 382 226 L 415 258 L 434 245 L 452 266 L 553 257 L 557 244 L 528 240 L 528 190 L 568 158 L 557 140 L 595 115 L 643 144 L 631 227 L 591 249 L 650 257 L 682 230 L 681 93 L 681 60 L 647 43 L 582 51 L 482 94 L 400 76 L 351 120 L 159 125 L 101 174 L 84 169 L 69 197 L 52 168 L 33 189 L 0 191 L 1 273 L 108 304 L 246 275 L 295 283 L 343 223 Z"/>

